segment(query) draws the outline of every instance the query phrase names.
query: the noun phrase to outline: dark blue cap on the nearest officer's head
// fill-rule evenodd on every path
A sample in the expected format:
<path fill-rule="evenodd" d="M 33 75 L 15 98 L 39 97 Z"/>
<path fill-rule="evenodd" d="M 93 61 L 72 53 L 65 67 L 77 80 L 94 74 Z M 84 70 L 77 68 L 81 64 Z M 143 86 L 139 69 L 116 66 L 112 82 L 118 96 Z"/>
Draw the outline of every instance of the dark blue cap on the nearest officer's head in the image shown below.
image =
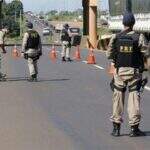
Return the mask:
<path fill-rule="evenodd" d="M 123 25 L 131 27 L 135 24 L 135 17 L 132 12 L 125 12 L 123 15 Z"/>

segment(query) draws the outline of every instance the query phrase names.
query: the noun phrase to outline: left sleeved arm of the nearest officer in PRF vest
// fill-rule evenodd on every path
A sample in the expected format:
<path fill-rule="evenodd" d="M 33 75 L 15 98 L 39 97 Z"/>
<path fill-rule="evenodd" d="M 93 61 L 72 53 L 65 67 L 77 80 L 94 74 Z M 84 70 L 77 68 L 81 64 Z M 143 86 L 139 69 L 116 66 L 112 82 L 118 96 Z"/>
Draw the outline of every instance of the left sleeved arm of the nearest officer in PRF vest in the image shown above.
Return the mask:
<path fill-rule="evenodd" d="M 115 40 L 116 40 L 116 34 L 113 34 L 108 45 L 108 50 L 106 51 L 106 57 L 112 61 L 113 61 L 113 51 L 114 51 Z"/>

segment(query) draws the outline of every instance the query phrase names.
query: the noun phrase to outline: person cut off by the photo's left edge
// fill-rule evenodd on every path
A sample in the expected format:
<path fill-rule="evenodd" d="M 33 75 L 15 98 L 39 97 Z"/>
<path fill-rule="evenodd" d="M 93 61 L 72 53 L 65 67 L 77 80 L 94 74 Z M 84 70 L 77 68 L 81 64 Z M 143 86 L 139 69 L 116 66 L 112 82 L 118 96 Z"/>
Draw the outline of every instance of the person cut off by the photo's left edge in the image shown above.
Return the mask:
<path fill-rule="evenodd" d="M 6 54 L 6 49 L 5 49 L 5 35 L 7 34 L 8 30 L 7 29 L 0 29 L 0 48 L 2 50 L 3 54 Z M 3 74 L 1 72 L 2 69 L 2 55 L 0 54 L 0 81 L 5 79 L 6 74 Z"/>

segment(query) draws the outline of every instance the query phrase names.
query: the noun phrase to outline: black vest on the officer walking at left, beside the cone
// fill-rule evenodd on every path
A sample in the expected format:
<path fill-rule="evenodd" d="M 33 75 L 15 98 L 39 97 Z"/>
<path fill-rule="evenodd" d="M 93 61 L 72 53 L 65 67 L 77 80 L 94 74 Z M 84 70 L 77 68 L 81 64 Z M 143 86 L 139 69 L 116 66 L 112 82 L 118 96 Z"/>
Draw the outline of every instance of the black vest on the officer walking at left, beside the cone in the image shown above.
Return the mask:
<path fill-rule="evenodd" d="M 29 37 L 27 40 L 26 49 L 30 49 L 30 48 L 37 49 L 39 46 L 39 40 L 40 40 L 40 36 L 38 32 L 34 30 L 30 30 L 27 33 L 29 34 Z"/>

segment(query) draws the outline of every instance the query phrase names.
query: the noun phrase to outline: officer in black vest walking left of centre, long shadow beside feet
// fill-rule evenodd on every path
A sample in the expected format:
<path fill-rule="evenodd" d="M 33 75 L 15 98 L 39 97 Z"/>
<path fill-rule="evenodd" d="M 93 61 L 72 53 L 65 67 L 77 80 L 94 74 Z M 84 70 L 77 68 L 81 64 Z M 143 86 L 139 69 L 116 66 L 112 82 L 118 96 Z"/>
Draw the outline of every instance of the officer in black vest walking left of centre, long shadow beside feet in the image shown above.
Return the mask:
<path fill-rule="evenodd" d="M 28 22 L 27 27 L 28 30 L 23 37 L 22 54 L 28 61 L 29 81 L 36 81 L 38 74 L 37 60 L 42 55 L 42 45 L 38 32 L 33 30 L 33 24 Z"/>

